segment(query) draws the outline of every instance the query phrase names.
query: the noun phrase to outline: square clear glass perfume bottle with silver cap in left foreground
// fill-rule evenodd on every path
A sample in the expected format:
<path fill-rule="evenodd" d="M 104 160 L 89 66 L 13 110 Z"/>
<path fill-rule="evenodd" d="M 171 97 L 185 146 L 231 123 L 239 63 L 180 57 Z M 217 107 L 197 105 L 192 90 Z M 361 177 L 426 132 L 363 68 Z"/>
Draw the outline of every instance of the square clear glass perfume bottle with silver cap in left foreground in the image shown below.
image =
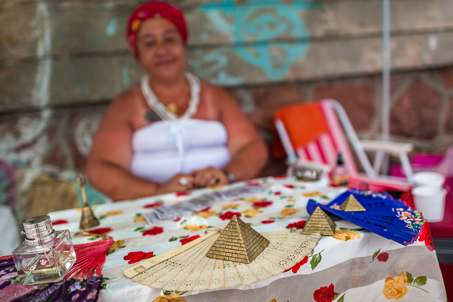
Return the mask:
<path fill-rule="evenodd" d="M 21 284 L 62 280 L 75 262 L 69 231 L 55 231 L 48 215 L 30 218 L 23 224 L 25 241 L 13 251 Z"/>

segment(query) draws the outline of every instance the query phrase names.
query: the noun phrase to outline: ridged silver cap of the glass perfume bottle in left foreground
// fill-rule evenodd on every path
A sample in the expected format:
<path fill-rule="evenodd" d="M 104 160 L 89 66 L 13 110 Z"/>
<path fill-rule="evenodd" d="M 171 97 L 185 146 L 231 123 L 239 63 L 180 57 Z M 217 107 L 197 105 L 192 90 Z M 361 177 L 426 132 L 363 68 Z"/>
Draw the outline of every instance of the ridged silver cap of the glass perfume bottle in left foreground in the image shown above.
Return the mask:
<path fill-rule="evenodd" d="M 25 240 L 31 245 L 39 245 L 51 241 L 56 234 L 48 215 L 30 218 L 24 223 Z"/>

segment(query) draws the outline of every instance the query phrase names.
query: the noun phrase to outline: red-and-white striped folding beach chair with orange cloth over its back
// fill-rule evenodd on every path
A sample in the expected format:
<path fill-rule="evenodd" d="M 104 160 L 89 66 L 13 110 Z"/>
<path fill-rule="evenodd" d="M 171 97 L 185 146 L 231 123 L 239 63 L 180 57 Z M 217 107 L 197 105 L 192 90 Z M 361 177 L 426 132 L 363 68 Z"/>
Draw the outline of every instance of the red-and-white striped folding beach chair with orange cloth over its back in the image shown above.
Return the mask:
<path fill-rule="evenodd" d="M 314 162 L 333 167 L 341 152 L 350 174 L 349 186 L 373 191 L 407 192 L 405 178 L 378 175 L 385 153 L 399 157 L 407 177 L 412 175 L 407 154 L 412 144 L 389 141 L 360 141 L 343 107 L 335 100 L 325 99 L 280 108 L 274 124 L 289 162 Z M 371 166 L 365 150 L 375 152 Z M 358 171 L 354 155 L 364 173 Z"/>

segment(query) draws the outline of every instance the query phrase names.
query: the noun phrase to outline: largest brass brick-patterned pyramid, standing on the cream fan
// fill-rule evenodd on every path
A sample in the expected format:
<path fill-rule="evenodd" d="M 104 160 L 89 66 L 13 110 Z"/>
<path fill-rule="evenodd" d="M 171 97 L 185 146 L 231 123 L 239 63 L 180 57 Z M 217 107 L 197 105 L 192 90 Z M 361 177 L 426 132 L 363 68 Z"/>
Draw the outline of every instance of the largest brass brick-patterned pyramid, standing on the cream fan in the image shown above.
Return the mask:
<path fill-rule="evenodd" d="M 231 218 L 206 257 L 249 264 L 269 245 L 269 240 L 237 215 Z"/>

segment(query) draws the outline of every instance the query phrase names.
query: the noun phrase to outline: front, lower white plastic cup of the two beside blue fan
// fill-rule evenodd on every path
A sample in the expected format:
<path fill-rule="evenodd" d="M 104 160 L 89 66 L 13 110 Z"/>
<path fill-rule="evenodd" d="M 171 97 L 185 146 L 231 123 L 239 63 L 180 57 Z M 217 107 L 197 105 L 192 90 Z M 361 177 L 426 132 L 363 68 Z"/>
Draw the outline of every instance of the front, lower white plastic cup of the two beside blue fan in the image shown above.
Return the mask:
<path fill-rule="evenodd" d="M 415 209 L 429 222 L 443 220 L 446 190 L 440 187 L 415 187 L 412 189 Z"/>

